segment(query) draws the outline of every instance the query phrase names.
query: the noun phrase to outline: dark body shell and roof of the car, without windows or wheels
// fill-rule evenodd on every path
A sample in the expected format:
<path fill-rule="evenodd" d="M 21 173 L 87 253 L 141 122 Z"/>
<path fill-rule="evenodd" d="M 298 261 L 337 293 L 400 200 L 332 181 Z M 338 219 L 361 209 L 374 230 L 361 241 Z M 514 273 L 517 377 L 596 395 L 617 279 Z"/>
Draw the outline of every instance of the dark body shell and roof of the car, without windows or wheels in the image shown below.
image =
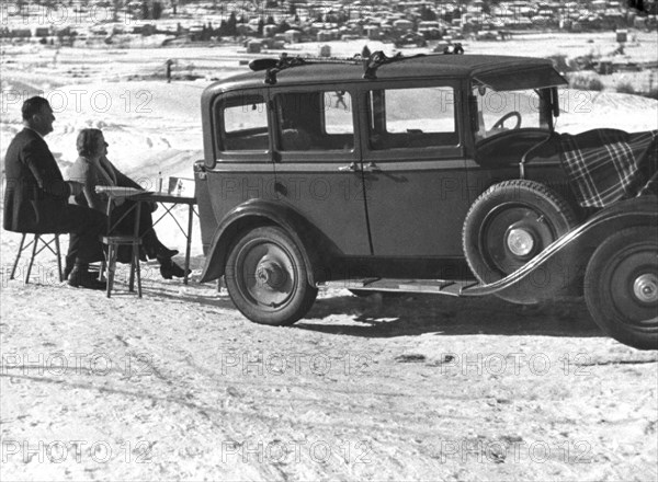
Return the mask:
<path fill-rule="evenodd" d="M 469 276 L 461 236 L 470 204 L 491 184 L 517 176 L 521 156 L 545 136 L 535 129 L 519 129 L 506 138 L 504 152 L 498 153 L 496 146 L 486 149 L 497 156 L 478 152 L 469 92 L 474 79 L 499 84 L 499 74 L 521 78 L 522 84 L 523 77 L 529 79 L 525 83 L 538 80 L 548 89 L 564 82 L 552 64 L 542 59 L 427 56 L 383 66 L 377 79 L 368 81 L 359 65 L 320 64 L 284 70 L 274 85 L 264 83 L 263 72 L 213 84 L 202 97 L 204 170 L 212 193 L 212 213 L 202 206 L 204 249 L 215 254 L 213 238 L 229 229 L 226 219 L 239 219 L 234 211 L 246 209 L 242 205 L 249 203 L 253 206 L 249 211 L 262 210 L 258 216 L 308 225 L 296 231 L 313 231 L 309 242 L 321 243 L 332 259 L 315 282 L 365 274 L 435 277 L 438 272 L 443 276 L 452 272 Z M 453 138 L 428 147 L 421 135 L 409 133 L 392 136 L 386 149 L 373 149 L 365 135 L 366 92 L 419 87 L 445 87 L 454 92 Z M 277 95 L 313 95 L 322 90 L 350 94 L 353 145 L 350 149 L 283 150 Z M 223 150 L 217 103 L 250 95 L 260 96 L 266 106 L 270 133 L 264 133 L 257 149 Z M 566 191 L 557 159 L 533 163 L 529 177 Z M 272 206 L 279 206 L 281 213 L 271 214 L 276 210 Z M 342 273 L 330 269 L 338 265 L 344 268 Z M 222 274 L 218 261 L 207 266 L 204 278 Z"/>

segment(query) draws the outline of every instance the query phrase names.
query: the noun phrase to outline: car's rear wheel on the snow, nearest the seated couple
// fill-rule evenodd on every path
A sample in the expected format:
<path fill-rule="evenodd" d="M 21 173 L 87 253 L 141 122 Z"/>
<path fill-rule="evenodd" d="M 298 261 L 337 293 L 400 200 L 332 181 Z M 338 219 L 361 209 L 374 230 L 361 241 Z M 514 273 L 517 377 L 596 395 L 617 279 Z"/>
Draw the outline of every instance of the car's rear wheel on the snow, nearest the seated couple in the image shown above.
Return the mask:
<path fill-rule="evenodd" d="M 308 283 L 302 251 L 275 226 L 247 231 L 234 243 L 226 264 L 226 287 L 245 317 L 271 325 L 299 320 L 318 292 Z"/>

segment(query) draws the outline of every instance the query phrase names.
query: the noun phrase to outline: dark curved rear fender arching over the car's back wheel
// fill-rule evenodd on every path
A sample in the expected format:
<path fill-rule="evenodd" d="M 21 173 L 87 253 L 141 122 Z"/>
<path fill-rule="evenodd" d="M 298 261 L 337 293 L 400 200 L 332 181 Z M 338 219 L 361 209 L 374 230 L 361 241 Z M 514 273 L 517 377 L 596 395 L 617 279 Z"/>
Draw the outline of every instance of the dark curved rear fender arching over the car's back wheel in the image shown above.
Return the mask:
<path fill-rule="evenodd" d="M 293 207 L 254 198 L 231 209 L 215 230 L 200 282 L 211 282 L 224 275 L 229 249 L 240 231 L 266 225 L 283 228 L 302 249 L 309 284 L 325 279 L 327 259 L 333 252 L 326 237 Z"/>

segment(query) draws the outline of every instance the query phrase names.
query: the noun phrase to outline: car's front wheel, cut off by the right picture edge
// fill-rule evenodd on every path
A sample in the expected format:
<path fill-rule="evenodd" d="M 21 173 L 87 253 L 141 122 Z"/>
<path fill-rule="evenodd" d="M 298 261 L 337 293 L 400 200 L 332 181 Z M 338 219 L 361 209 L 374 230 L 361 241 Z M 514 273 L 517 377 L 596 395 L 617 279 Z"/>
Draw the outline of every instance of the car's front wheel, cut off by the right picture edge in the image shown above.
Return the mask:
<path fill-rule="evenodd" d="M 615 232 L 594 251 L 585 299 L 601 329 L 639 349 L 658 349 L 658 237 L 656 227 Z"/>

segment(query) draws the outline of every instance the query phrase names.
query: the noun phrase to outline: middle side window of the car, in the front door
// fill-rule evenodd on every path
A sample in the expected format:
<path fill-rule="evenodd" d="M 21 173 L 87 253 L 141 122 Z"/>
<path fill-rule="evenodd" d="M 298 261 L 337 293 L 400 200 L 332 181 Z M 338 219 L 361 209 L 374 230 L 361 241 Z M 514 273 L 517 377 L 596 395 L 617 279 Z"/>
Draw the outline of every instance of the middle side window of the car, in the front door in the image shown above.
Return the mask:
<path fill-rule="evenodd" d="M 373 150 L 457 146 L 452 87 L 373 90 L 368 93 Z"/>

